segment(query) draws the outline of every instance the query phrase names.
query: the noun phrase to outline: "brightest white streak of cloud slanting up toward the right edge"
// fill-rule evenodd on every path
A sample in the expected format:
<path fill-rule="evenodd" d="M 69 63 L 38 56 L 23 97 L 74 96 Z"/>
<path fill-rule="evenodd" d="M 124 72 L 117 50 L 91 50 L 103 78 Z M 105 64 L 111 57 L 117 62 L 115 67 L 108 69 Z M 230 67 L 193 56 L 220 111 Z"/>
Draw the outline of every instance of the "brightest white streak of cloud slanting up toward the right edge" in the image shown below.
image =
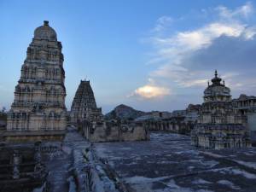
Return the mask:
<path fill-rule="evenodd" d="M 188 51 L 205 48 L 212 44 L 212 40 L 222 35 L 239 37 L 242 32 L 246 32 L 246 26 L 242 24 L 214 22 L 194 31 L 178 32 L 177 35 L 170 38 L 153 39 L 154 44 L 157 44 L 160 48 L 158 52 L 159 56 L 174 55 L 177 57 Z M 253 28 L 251 28 L 252 32 L 254 32 Z"/>

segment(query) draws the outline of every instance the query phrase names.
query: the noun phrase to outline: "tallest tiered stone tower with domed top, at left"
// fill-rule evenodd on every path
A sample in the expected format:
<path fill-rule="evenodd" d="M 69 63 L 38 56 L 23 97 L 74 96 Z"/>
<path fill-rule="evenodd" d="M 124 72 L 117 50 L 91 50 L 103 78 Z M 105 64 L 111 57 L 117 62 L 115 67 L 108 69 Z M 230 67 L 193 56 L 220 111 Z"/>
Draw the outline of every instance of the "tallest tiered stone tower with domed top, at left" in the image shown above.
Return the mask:
<path fill-rule="evenodd" d="M 61 139 L 67 125 L 61 42 L 44 20 L 34 31 L 8 113 L 7 141 Z"/>

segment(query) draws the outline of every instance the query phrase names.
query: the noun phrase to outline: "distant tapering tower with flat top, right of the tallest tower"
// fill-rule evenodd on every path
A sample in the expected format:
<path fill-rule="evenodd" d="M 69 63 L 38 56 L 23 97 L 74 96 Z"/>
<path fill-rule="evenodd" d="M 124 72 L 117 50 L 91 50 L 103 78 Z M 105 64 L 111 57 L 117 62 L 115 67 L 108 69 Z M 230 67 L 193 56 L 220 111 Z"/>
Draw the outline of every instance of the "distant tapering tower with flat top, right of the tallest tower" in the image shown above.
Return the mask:
<path fill-rule="evenodd" d="M 80 81 L 79 88 L 73 98 L 70 117 L 73 125 L 78 125 L 84 119 L 101 120 L 103 118 L 102 108 L 96 106 L 90 81 Z"/>

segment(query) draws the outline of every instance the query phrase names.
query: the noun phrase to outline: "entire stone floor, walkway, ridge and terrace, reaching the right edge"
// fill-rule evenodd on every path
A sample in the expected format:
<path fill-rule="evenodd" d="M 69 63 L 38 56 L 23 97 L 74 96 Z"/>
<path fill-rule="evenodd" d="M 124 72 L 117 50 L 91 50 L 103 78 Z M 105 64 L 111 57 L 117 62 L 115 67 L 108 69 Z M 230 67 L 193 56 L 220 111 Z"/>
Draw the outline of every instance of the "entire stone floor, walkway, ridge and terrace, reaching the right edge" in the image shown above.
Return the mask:
<path fill-rule="evenodd" d="M 255 191 L 256 148 L 206 150 L 183 135 L 150 137 L 91 144 L 70 127 L 63 143 L 43 144 L 49 175 L 33 192 Z"/>

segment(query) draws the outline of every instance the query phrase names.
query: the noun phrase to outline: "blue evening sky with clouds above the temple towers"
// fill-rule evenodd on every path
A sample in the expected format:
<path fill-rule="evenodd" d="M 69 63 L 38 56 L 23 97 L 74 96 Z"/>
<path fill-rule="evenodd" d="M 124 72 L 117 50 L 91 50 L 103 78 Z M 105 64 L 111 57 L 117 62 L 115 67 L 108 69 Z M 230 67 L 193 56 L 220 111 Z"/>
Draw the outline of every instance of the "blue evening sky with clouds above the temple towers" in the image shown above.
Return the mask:
<path fill-rule="evenodd" d="M 256 1 L 0 0 L 0 108 L 49 20 L 62 44 L 66 106 L 89 79 L 98 107 L 172 111 L 202 103 L 214 70 L 233 98 L 256 95 Z"/>

